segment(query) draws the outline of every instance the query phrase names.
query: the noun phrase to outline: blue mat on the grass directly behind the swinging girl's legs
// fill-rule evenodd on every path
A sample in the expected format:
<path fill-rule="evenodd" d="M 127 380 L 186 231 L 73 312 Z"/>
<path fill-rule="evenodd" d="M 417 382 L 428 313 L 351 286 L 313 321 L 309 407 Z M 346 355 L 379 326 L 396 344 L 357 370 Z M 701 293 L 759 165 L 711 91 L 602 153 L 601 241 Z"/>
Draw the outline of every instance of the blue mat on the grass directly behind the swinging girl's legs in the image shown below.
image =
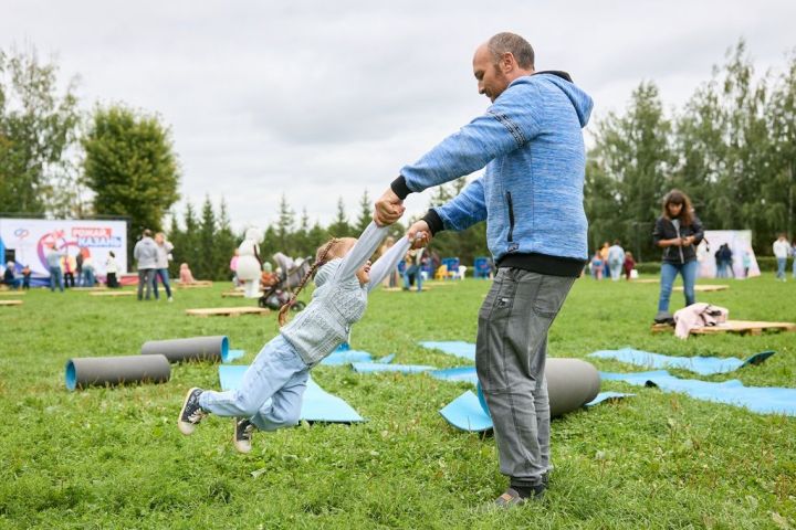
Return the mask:
<path fill-rule="evenodd" d="M 249 367 L 245 364 L 220 364 L 219 379 L 221 380 L 221 390 L 237 389 L 248 369 Z M 307 388 L 304 391 L 301 420 L 326 423 L 354 423 L 365 421 L 345 400 L 329 394 L 318 386 L 312 378 L 307 381 Z"/>

